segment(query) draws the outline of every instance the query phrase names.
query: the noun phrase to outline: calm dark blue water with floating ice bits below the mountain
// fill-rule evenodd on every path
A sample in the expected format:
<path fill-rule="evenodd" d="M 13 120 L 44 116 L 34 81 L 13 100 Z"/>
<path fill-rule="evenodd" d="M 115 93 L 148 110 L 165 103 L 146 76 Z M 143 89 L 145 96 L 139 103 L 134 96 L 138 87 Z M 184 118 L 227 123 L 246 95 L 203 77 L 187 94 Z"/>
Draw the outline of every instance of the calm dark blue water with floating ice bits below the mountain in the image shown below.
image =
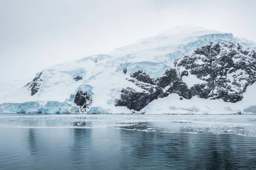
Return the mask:
<path fill-rule="evenodd" d="M 256 169 L 256 115 L 0 114 L 0 169 Z"/>

